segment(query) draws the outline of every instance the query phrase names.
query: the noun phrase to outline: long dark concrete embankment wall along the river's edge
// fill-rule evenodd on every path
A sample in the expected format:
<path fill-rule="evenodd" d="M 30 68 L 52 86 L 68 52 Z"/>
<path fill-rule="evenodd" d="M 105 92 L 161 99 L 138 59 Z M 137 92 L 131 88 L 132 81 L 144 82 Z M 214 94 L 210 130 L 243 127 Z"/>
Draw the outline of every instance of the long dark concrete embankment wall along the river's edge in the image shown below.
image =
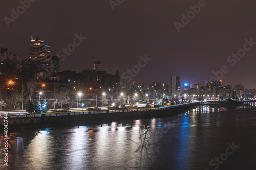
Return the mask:
<path fill-rule="evenodd" d="M 102 120 L 124 120 L 124 119 L 142 119 L 151 117 L 161 117 L 172 115 L 177 111 L 199 106 L 198 102 L 174 105 L 163 108 L 153 109 L 134 109 L 134 110 L 114 110 L 114 111 L 95 111 L 95 112 L 77 112 L 77 113 L 55 113 L 38 114 L 26 116 L 8 116 L 9 128 L 20 127 L 41 127 L 69 123 L 90 123 Z M 3 128 L 4 119 L 0 118 L 0 125 Z M 1 128 L 1 129 L 2 129 Z"/>

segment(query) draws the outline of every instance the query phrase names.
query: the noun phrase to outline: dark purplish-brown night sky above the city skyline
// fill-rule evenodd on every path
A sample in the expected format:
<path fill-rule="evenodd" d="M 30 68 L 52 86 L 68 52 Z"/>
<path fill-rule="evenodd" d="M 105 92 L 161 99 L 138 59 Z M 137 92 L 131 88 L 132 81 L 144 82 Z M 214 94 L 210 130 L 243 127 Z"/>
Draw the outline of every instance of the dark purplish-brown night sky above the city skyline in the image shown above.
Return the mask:
<path fill-rule="evenodd" d="M 125 0 L 113 11 L 108 0 L 37 0 L 8 28 L 4 17 L 11 18 L 11 9 L 17 11 L 21 4 L 1 1 L 0 46 L 28 59 L 30 36 L 39 36 L 56 55 L 82 33 L 87 39 L 61 61 L 61 71 L 91 69 L 94 55 L 102 70 L 111 74 L 118 70 L 121 77 L 146 54 L 152 60 L 133 78 L 139 83 L 170 84 L 170 76 L 177 75 L 182 84 L 204 84 L 204 79 L 214 76 L 212 71 L 226 65 L 224 85 L 256 88 L 256 45 L 234 66 L 227 62 L 229 55 L 243 48 L 246 38 L 256 42 L 256 1 L 207 0 L 178 33 L 174 22 L 181 23 L 181 14 L 199 2 Z"/>

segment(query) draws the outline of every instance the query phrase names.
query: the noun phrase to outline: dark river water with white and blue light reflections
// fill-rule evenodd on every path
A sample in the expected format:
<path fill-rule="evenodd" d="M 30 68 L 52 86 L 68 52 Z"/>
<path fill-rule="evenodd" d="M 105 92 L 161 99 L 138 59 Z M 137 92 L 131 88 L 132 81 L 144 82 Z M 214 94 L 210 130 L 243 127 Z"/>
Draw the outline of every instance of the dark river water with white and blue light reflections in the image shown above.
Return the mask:
<path fill-rule="evenodd" d="M 256 108 L 200 106 L 166 118 L 12 132 L 9 141 L 8 169 L 256 169 Z"/>

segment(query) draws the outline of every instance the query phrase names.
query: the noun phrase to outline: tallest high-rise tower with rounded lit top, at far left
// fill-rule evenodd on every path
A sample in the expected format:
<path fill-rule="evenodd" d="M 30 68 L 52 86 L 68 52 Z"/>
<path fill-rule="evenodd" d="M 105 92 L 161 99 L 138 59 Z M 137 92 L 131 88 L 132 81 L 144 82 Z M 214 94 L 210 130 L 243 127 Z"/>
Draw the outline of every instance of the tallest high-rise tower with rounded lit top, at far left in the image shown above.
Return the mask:
<path fill-rule="evenodd" d="M 48 46 L 39 37 L 33 40 L 31 36 L 30 46 L 29 46 L 29 59 L 36 60 L 40 62 L 52 62 L 52 54 L 50 46 Z"/>

